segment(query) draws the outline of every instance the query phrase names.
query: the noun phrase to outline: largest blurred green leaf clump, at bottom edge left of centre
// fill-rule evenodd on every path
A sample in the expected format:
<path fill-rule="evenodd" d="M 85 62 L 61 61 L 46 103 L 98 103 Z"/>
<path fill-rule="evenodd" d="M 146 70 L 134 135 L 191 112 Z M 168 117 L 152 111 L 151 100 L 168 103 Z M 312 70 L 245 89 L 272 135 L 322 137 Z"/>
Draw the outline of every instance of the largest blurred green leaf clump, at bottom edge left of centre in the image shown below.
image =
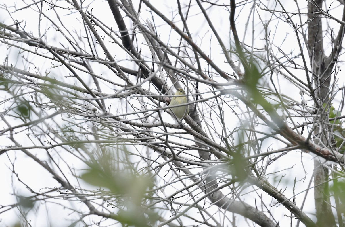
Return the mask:
<path fill-rule="evenodd" d="M 124 226 L 135 227 L 148 227 L 159 220 L 160 216 L 148 207 L 152 202 L 153 178 L 148 173 L 139 173 L 130 162 L 126 149 L 113 154 L 104 152 L 89 167 L 81 179 L 109 195 L 107 202 L 116 210 L 110 215 L 112 219 Z"/>

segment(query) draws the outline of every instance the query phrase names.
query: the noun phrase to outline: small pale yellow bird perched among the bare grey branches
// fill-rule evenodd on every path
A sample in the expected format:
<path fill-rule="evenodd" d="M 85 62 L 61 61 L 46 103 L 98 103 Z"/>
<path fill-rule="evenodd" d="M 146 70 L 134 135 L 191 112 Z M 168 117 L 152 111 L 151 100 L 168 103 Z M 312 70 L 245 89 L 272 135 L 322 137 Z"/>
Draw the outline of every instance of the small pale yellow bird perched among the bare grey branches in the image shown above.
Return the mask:
<path fill-rule="evenodd" d="M 185 91 L 182 88 L 177 88 L 174 97 L 172 97 L 170 101 L 169 106 L 170 107 L 178 106 L 178 105 L 186 104 L 187 102 L 188 102 L 188 99 L 187 99 Z M 188 115 L 188 112 L 189 112 L 188 105 L 172 107 L 170 109 L 178 118 L 178 120 L 184 119 Z"/>

